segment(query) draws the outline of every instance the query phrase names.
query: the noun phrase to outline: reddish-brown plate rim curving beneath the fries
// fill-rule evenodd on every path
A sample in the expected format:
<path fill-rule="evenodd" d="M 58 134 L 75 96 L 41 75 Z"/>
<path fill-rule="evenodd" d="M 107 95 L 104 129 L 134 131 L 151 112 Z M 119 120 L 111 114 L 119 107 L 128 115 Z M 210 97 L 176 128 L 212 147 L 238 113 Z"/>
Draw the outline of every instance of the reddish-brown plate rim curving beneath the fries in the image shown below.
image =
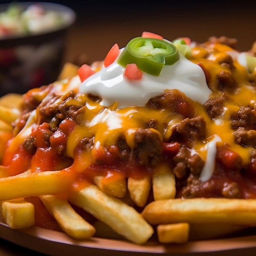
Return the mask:
<path fill-rule="evenodd" d="M 202 240 L 185 244 L 159 244 L 147 242 L 144 245 L 135 245 L 129 241 L 108 238 L 91 238 L 90 240 L 77 240 L 65 233 L 52 231 L 41 227 L 27 229 L 11 229 L 0 220 L 0 237 L 27 249 L 52 256 L 68 256 L 76 250 L 76 256 L 85 253 L 99 253 L 108 255 L 177 255 L 199 254 L 210 252 L 223 252 L 235 249 L 254 249 L 256 252 L 256 235 L 240 236 L 234 238 Z M 89 254 L 90 255 L 90 254 Z"/>

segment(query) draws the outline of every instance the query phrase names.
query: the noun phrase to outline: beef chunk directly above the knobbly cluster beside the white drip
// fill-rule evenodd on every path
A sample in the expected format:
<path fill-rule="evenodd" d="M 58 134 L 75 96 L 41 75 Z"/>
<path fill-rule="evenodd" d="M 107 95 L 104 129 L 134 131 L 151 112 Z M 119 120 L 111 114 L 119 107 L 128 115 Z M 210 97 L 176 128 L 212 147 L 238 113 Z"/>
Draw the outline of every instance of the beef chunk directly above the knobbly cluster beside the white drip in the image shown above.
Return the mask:
<path fill-rule="evenodd" d="M 202 116 L 186 118 L 173 127 L 174 135 L 178 133 L 182 140 L 188 144 L 192 139 L 204 139 L 206 134 L 206 122 Z"/>

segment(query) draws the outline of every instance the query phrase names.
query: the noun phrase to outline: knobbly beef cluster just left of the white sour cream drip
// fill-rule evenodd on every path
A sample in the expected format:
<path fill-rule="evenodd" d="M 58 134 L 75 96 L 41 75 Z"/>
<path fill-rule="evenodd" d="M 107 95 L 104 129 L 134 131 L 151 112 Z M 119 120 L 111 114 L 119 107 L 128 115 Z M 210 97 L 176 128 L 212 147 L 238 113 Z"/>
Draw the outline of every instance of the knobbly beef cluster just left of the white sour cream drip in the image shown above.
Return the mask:
<path fill-rule="evenodd" d="M 193 154 L 186 147 L 181 147 L 177 155 L 173 157 L 175 167 L 173 173 L 178 179 L 185 177 L 190 171 L 191 174 L 200 175 L 204 167 L 204 160 L 198 155 Z"/>

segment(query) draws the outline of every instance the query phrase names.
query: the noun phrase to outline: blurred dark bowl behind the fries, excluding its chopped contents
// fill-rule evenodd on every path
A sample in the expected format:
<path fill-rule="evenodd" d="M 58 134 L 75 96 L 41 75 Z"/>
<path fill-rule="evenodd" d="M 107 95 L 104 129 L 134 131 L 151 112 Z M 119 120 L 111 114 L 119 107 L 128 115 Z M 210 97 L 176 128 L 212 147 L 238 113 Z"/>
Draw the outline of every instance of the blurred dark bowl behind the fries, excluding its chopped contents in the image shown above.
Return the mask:
<path fill-rule="evenodd" d="M 26 9 L 36 2 L 20 2 Z M 75 12 L 61 4 L 40 2 L 46 11 L 63 15 L 65 22 L 47 32 L 0 38 L 0 96 L 23 94 L 32 88 L 55 81 L 61 70 L 68 29 L 76 19 Z M 9 4 L 0 4 L 0 13 Z"/>

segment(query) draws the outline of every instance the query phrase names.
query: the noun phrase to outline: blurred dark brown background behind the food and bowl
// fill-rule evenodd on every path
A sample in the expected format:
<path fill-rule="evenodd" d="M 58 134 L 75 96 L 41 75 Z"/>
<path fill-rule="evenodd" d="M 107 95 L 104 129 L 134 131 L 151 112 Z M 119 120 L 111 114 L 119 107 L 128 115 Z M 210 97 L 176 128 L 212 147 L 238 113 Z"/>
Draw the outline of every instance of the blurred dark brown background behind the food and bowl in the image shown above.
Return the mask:
<path fill-rule="evenodd" d="M 10 2 L 0 0 L 0 3 Z M 101 61 L 112 45 L 118 43 L 120 48 L 124 47 L 143 31 L 169 40 L 188 36 L 200 43 L 210 36 L 224 35 L 237 38 L 236 48 L 240 51 L 250 49 L 256 40 L 256 1 L 251 0 L 47 2 L 63 4 L 76 13 L 76 21 L 66 35 L 62 65 Z"/>

